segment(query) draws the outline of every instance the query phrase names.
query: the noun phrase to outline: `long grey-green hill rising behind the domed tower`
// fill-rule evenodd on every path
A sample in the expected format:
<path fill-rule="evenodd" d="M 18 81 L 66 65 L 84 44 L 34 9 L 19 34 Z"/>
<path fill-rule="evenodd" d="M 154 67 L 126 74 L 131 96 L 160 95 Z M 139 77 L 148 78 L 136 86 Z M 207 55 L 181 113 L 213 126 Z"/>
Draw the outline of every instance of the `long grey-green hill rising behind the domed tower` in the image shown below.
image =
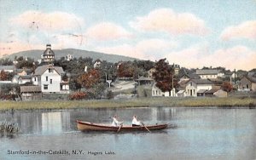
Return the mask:
<path fill-rule="evenodd" d="M 128 60 L 137 60 L 135 58 L 131 57 L 126 57 L 123 55 L 116 55 L 116 54 L 104 54 L 104 53 L 99 53 L 99 52 L 94 52 L 94 51 L 87 51 L 87 50 L 80 50 L 80 49 L 53 49 L 55 52 L 55 59 L 59 60 L 61 57 L 65 57 L 67 54 L 71 54 L 76 58 L 79 57 L 90 57 L 93 60 L 100 59 L 100 60 L 107 60 L 108 62 L 118 62 L 118 61 L 128 61 Z M 9 58 L 11 60 L 15 59 L 15 56 L 20 57 L 29 57 L 34 60 L 39 60 L 41 59 L 41 54 L 44 53 L 44 50 L 27 50 L 27 51 L 22 51 L 18 52 L 15 54 L 9 54 L 7 56 L 4 56 L 3 58 Z"/>

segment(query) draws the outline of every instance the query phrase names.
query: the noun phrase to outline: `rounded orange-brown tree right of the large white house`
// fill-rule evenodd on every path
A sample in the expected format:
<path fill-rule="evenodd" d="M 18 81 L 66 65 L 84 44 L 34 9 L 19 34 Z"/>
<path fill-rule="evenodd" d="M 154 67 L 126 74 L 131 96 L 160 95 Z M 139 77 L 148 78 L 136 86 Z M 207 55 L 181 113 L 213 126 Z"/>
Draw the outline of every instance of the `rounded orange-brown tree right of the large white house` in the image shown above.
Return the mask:
<path fill-rule="evenodd" d="M 90 89 L 93 85 L 100 82 L 100 72 L 96 69 L 90 70 L 79 76 L 78 83 L 85 89 Z"/>

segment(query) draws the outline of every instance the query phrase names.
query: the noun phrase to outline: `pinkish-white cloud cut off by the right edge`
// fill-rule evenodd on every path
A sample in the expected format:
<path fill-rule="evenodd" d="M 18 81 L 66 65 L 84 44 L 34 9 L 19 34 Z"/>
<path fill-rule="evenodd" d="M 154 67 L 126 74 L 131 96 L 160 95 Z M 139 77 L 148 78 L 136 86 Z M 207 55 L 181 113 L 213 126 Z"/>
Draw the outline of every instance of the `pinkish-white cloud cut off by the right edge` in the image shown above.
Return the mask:
<path fill-rule="evenodd" d="M 238 26 L 229 26 L 222 31 L 220 37 L 224 41 L 236 38 L 256 40 L 256 20 L 245 21 Z"/>

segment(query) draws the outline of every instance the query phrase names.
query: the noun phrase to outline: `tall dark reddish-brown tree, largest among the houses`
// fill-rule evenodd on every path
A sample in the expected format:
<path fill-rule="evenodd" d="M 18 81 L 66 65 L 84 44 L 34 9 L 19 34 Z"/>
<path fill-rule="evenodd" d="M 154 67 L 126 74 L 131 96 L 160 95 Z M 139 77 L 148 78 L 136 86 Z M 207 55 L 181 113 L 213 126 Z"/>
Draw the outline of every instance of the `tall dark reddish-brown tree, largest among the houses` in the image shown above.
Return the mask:
<path fill-rule="evenodd" d="M 169 66 L 166 59 L 161 59 L 155 64 L 155 72 L 153 73 L 156 87 L 162 91 L 171 91 L 172 88 L 177 88 L 177 79 L 174 79 L 174 70 Z M 173 78 L 173 86 L 172 86 Z"/>

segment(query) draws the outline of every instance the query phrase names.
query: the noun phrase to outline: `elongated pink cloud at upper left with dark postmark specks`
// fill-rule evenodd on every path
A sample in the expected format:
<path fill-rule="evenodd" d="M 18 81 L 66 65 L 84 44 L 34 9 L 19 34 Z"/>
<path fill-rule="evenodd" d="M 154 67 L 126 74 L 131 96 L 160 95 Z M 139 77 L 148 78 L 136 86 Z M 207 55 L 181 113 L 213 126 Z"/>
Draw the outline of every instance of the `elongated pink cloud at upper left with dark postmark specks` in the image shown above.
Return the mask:
<path fill-rule="evenodd" d="M 11 25 L 20 26 L 28 30 L 39 31 L 70 31 L 84 26 L 84 20 L 75 14 L 65 12 L 43 13 L 26 11 L 9 20 Z"/>

